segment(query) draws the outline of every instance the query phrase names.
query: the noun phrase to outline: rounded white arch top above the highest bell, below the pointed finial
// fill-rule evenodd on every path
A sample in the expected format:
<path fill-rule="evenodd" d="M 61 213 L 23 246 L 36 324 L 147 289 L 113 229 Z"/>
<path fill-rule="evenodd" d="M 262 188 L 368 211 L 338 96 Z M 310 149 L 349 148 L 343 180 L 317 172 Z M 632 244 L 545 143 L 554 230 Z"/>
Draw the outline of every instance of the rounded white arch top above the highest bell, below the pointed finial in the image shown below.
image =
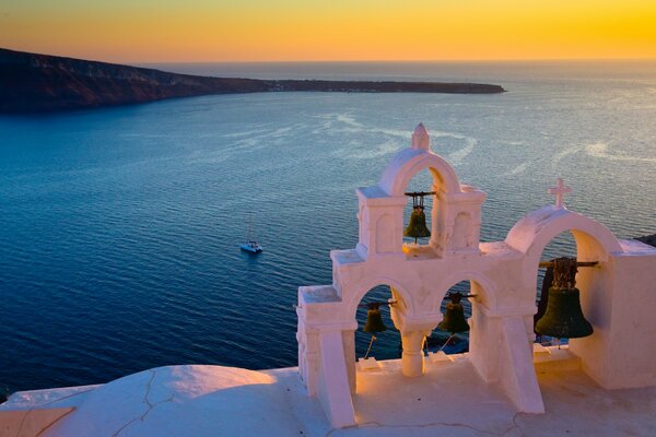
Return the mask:
<path fill-rule="evenodd" d="M 383 172 L 378 186 L 388 196 L 403 196 L 410 179 L 426 168 L 444 192 L 460 192 L 458 176 L 444 158 L 431 151 L 415 149 L 400 151 Z"/>

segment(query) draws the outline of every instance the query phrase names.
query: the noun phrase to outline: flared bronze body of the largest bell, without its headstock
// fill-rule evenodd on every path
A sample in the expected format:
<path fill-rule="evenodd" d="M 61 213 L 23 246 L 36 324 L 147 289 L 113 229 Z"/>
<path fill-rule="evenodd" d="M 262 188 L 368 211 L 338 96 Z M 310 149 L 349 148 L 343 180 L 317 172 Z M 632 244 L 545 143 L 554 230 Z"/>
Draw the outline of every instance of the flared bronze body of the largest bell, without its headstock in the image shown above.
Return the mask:
<path fill-rule="evenodd" d="M 557 339 L 579 339 L 594 330 L 581 309 L 578 288 L 549 288 L 544 316 L 536 323 L 536 332 Z"/>

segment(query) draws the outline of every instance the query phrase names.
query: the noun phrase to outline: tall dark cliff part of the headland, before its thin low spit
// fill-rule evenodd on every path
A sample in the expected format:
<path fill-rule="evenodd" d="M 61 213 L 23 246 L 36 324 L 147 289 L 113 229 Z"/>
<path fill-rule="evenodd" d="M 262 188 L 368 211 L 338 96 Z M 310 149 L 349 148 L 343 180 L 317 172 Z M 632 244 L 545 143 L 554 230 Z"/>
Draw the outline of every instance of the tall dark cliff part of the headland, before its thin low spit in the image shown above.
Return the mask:
<path fill-rule="evenodd" d="M 263 81 L 216 79 L 0 49 L 0 111 L 48 111 L 169 97 L 267 91 Z"/>

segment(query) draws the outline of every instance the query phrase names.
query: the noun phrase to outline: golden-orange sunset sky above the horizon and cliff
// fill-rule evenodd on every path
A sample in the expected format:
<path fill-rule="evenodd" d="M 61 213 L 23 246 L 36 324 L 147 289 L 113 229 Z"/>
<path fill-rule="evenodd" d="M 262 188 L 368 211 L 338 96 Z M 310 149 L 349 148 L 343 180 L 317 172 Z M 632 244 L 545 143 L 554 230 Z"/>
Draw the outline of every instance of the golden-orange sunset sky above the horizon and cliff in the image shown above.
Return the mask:
<path fill-rule="evenodd" d="M 110 62 L 656 58 L 656 0 L 0 0 L 0 47 Z"/>

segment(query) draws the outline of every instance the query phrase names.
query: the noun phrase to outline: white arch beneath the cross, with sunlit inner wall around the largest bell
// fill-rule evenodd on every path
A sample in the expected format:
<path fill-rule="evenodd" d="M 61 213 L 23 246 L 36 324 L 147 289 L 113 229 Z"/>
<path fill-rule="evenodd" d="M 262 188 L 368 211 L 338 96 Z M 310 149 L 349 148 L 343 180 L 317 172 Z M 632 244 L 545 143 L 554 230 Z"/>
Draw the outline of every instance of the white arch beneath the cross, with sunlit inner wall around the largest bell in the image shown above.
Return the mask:
<path fill-rule="evenodd" d="M 608 345 L 613 340 L 610 324 L 611 308 L 613 306 L 614 265 L 609 261 L 611 260 L 611 253 L 620 253 L 623 250 L 618 239 L 608 228 L 584 215 L 563 208 L 544 206 L 527 214 L 513 226 L 505 239 L 509 247 L 523 253 L 525 258 L 525 270 L 518 275 L 520 277 L 517 277 L 520 282 L 517 288 L 518 293 L 513 297 L 519 307 L 527 308 L 527 317 L 524 322 L 528 328 L 527 331 L 530 332 L 529 327 L 532 326 L 534 320 L 532 315 L 528 316 L 528 314 L 534 312 L 531 309 L 537 310 L 535 298 L 540 260 L 549 256 L 573 252 L 571 239 L 567 241 L 566 234 L 562 237 L 564 240 L 559 241 L 557 239 L 563 233 L 571 233 L 574 238 L 577 261 L 597 262 L 594 267 L 578 269 L 575 275 L 576 288 L 579 290 L 581 310 L 585 319 L 591 324 L 594 333 L 583 338 L 571 338 L 567 353 L 559 353 L 555 357 L 552 356 L 551 350 L 541 351 L 540 347 L 534 346 L 532 361 L 538 364 L 542 361 L 578 357 L 584 371 L 595 379 L 602 380 L 606 378 L 605 371 L 607 371 L 607 368 L 605 366 L 610 353 Z M 554 239 L 557 239 L 555 244 L 549 252 L 544 253 L 544 249 Z M 570 249 L 567 249 L 567 246 L 570 246 Z M 553 252 L 553 249 L 558 249 L 558 251 Z M 570 280 L 567 276 L 565 279 Z M 569 304 L 566 307 L 572 308 Z M 560 336 L 564 338 L 565 335 Z M 491 374 L 494 375 L 494 373 Z"/>

